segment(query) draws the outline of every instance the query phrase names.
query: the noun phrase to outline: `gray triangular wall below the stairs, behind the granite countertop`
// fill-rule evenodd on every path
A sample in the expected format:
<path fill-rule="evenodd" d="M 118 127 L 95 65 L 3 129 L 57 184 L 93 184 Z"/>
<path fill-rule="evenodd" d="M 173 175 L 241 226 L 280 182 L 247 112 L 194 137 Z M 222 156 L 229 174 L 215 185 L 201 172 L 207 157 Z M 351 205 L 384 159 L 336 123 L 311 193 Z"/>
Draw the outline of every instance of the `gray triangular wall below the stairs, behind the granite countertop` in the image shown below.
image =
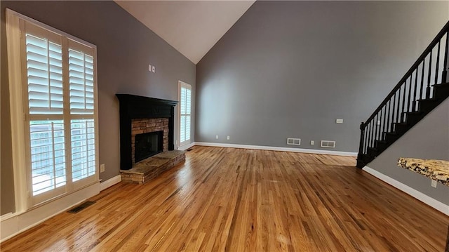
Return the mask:
<path fill-rule="evenodd" d="M 449 160 L 449 99 L 430 112 L 368 167 L 449 205 L 449 187 L 396 165 L 399 157 Z"/>

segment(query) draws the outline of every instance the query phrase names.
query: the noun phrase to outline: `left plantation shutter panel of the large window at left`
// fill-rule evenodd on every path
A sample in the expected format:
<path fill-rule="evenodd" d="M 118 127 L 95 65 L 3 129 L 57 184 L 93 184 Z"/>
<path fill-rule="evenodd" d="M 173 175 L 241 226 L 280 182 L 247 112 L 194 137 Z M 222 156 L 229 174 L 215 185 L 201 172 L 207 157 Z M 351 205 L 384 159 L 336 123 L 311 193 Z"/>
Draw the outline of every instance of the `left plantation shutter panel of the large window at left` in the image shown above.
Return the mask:
<path fill-rule="evenodd" d="M 41 201 L 65 192 L 67 182 L 62 37 L 27 22 L 25 55 L 31 187 Z"/>

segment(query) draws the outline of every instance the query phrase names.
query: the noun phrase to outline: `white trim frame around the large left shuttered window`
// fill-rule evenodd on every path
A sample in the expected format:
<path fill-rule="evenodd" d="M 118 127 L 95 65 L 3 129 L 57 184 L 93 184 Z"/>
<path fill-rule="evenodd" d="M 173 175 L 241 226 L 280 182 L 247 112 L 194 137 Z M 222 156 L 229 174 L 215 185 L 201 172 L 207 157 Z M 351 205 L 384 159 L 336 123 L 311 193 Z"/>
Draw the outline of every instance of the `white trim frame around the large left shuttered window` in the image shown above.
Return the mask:
<path fill-rule="evenodd" d="M 14 173 L 14 193 L 15 193 L 15 215 L 23 213 L 32 208 L 36 208 L 43 204 L 47 204 L 55 199 L 60 199 L 74 191 L 65 192 L 60 194 L 58 197 L 53 199 L 48 199 L 39 204 L 33 204 L 32 197 L 30 197 L 29 192 L 29 179 L 27 176 L 27 144 L 26 144 L 26 133 L 25 128 L 25 110 L 24 103 L 25 98 L 23 93 L 25 92 L 22 88 L 22 80 L 24 76 L 22 75 L 22 64 L 24 64 L 24 59 L 21 56 L 21 31 L 20 31 L 20 20 L 25 20 L 27 22 L 32 22 L 35 25 L 39 25 L 43 29 L 48 29 L 51 32 L 58 33 L 67 39 L 72 39 L 80 44 L 84 44 L 91 48 L 94 48 L 94 120 L 95 120 L 95 178 L 92 183 L 88 183 L 80 187 L 79 190 L 89 187 L 95 183 L 99 183 L 99 150 L 98 150 L 98 87 L 97 87 L 97 55 L 96 46 L 90 44 L 86 41 L 78 39 L 70 34 L 62 32 L 58 29 L 45 25 L 37 20 L 28 18 L 25 15 L 6 9 L 6 37 L 7 37 L 7 48 L 8 48 L 8 74 L 9 74 L 9 91 L 10 91 L 10 110 L 11 110 L 11 137 L 12 142 L 12 155 L 13 155 L 13 173 Z M 69 165 L 69 164 L 67 164 Z"/>

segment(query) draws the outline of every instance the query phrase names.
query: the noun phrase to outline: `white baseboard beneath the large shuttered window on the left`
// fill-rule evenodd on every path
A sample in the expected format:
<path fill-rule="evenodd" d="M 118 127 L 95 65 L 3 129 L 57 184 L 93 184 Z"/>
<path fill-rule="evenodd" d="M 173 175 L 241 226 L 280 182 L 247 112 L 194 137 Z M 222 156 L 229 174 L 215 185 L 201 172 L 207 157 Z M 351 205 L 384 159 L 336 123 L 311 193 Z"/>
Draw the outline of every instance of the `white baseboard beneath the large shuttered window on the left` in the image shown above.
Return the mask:
<path fill-rule="evenodd" d="M 29 211 L 4 215 L 0 223 L 0 242 L 6 241 L 20 232 L 29 230 L 99 193 L 100 183 L 95 183 Z"/>

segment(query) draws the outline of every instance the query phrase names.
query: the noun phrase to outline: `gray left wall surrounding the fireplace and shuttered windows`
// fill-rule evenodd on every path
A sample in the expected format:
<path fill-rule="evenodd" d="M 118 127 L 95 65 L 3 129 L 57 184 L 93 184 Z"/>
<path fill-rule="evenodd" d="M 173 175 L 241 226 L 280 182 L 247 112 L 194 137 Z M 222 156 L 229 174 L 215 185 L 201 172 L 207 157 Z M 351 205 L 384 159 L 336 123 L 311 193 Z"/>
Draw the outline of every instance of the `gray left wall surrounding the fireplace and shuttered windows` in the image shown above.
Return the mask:
<path fill-rule="evenodd" d="M 6 7 L 97 46 L 100 164 L 106 167 L 100 173 L 102 180 L 119 175 L 119 101 L 115 94 L 177 100 L 177 81 L 191 84 L 193 91 L 196 81 L 191 61 L 113 1 L 1 1 L 1 214 L 14 211 Z M 149 64 L 156 66 L 155 74 L 148 72 Z"/>

